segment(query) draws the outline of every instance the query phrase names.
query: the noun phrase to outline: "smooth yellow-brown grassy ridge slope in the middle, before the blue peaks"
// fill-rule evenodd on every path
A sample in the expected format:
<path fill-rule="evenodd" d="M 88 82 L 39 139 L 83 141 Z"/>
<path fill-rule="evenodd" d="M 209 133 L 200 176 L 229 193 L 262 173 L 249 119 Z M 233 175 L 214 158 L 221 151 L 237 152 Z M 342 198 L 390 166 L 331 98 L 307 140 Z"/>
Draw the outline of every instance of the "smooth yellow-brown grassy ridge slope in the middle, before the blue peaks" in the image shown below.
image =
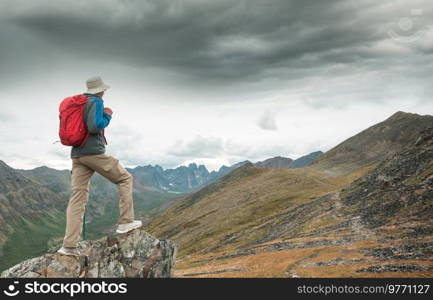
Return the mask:
<path fill-rule="evenodd" d="M 162 212 L 147 229 L 176 241 L 181 256 L 244 247 L 275 232 L 273 224 L 286 218 L 282 212 L 304 207 L 359 175 L 352 176 L 326 178 L 307 169 L 248 163 Z"/>

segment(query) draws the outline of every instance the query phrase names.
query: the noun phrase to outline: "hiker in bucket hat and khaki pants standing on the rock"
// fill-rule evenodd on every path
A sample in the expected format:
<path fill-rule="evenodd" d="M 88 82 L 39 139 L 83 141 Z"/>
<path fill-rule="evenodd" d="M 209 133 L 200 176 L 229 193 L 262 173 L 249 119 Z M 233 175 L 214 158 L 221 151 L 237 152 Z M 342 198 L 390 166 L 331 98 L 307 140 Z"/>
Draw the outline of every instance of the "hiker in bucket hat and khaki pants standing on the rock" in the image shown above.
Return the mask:
<path fill-rule="evenodd" d="M 72 98 L 72 102 L 75 101 L 74 103 L 78 103 L 78 100 L 82 101 L 82 113 L 80 112 L 76 118 L 84 119 L 81 119 L 80 123 L 76 124 L 83 124 L 81 126 L 85 126 L 87 129 L 85 130 L 85 139 L 80 142 L 81 144 L 79 145 L 77 145 L 77 143 L 68 143 L 62 140 L 64 145 L 75 146 L 73 146 L 71 150 L 72 195 L 66 212 L 66 233 L 63 240 L 63 246 L 58 250 L 58 253 L 72 256 L 80 254 L 77 250 L 77 245 L 80 240 L 83 216 L 89 198 L 90 178 L 95 172 L 116 184 L 119 189 L 120 216 L 116 232 L 126 233 L 141 227 L 142 225 L 141 221 L 134 220 L 132 175 L 125 170 L 125 168 L 119 163 L 119 160 L 105 154 L 105 145 L 107 144 L 107 141 L 105 139 L 104 129 L 110 124 L 113 111 L 108 107 L 104 108 L 102 97 L 109 86 L 106 85 L 100 77 L 90 78 L 87 80 L 86 84 L 86 93 L 66 98 L 63 101 L 66 104 L 63 104 L 63 102 L 61 104 L 62 111 L 62 105 L 69 105 Z M 69 108 L 70 107 L 73 106 L 70 105 Z M 75 107 L 78 106 L 75 105 Z M 60 115 L 60 120 L 62 130 L 62 126 L 66 127 L 66 125 L 62 125 L 62 114 Z M 70 131 L 76 131 L 78 125 L 73 124 L 73 128 L 69 126 L 69 128 L 64 130 L 70 129 Z M 65 135 L 67 138 L 73 136 L 73 134 L 69 134 L 68 136 L 68 134 L 65 134 L 64 132 L 62 133 L 61 131 L 61 138 L 64 138 Z"/>

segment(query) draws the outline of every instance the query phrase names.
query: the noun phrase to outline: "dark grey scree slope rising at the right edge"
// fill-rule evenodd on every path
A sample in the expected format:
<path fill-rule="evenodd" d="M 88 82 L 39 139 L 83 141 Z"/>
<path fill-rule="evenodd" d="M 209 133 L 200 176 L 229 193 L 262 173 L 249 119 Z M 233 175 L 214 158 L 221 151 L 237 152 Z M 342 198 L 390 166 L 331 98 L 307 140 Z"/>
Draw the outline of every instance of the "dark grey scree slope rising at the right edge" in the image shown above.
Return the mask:
<path fill-rule="evenodd" d="M 384 230 L 386 239 L 421 240 L 433 255 L 433 127 L 344 189 L 341 199 L 367 228 Z"/>

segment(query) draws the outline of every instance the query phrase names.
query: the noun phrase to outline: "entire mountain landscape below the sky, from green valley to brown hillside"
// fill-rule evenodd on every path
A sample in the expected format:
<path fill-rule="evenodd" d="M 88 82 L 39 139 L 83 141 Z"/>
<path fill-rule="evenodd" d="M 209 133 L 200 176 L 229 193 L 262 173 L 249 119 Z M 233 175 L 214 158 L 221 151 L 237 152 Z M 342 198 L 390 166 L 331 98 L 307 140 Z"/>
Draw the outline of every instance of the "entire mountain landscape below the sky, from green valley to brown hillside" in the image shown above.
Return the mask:
<path fill-rule="evenodd" d="M 177 277 L 433 275 L 432 116 L 397 112 L 295 161 L 129 171 L 145 229 L 178 246 Z M 70 177 L 1 162 L 0 178 L 5 268 L 58 244 Z M 115 223 L 117 195 L 100 176 L 91 184 L 97 236 Z"/>

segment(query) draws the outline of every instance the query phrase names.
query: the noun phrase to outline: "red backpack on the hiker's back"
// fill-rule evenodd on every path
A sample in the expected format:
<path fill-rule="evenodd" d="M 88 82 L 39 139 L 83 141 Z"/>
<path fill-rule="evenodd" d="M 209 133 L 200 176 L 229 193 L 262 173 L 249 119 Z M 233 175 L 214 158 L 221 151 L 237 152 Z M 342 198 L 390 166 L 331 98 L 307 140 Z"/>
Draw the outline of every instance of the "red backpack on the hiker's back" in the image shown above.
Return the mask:
<path fill-rule="evenodd" d="M 65 98 L 60 103 L 60 141 L 65 146 L 84 146 L 89 138 L 89 131 L 84 122 L 87 97 L 76 95 Z"/>

